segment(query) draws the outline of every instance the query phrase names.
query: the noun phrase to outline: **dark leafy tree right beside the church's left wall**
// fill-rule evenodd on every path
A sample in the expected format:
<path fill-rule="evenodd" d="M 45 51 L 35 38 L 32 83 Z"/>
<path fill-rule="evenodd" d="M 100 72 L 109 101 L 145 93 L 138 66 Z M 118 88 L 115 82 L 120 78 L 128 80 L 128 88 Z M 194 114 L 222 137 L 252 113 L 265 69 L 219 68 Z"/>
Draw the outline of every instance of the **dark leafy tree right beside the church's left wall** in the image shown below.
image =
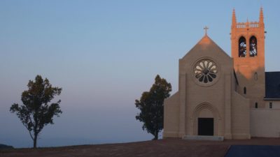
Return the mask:
<path fill-rule="evenodd" d="M 158 133 L 163 128 L 163 102 L 170 96 L 170 91 L 171 84 L 157 75 L 150 91 L 144 91 L 140 100 L 135 100 L 136 107 L 141 111 L 136 119 L 144 123 L 143 130 L 154 135 L 153 140 L 158 140 Z"/>

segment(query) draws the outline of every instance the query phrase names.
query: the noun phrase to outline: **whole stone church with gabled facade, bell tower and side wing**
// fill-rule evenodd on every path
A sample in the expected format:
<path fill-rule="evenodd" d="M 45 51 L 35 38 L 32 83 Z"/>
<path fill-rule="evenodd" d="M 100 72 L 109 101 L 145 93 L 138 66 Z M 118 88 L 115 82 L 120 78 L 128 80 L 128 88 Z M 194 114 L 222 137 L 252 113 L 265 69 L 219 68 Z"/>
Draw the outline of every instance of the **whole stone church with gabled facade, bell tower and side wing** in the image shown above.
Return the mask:
<path fill-rule="evenodd" d="M 204 29 L 179 59 L 179 91 L 165 99 L 163 137 L 280 137 L 280 72 L 265 72 L 262 8 L 258 22 L 237 22 L 233 10 L 231 57 Z"/>

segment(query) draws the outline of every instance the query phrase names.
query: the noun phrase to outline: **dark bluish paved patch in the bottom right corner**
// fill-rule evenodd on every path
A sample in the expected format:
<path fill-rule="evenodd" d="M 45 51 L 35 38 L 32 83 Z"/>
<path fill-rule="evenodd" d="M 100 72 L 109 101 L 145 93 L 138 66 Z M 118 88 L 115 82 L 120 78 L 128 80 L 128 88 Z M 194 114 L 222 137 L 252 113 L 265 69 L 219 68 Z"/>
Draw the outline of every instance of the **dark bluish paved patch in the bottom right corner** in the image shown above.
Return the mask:
<path fill-rule="evenodd" d="M 233 145 L 225 157 L 279 157 L 280 146 Z"/>

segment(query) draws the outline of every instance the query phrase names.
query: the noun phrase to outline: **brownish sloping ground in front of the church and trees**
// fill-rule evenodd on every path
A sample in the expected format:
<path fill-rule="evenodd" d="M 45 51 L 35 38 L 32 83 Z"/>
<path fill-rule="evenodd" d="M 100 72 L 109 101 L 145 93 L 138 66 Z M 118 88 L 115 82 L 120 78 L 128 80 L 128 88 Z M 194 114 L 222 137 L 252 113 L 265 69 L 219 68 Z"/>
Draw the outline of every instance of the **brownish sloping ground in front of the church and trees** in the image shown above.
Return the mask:
<path fill-rule="evenodd" d="M 230 145 L 280 145 L 280 138 L 253 138 L 251 140 L 225 140 L 223 142 L 165 139 L 123 144 L 1 150 L 0 156 L 223 157 L 230 148 Z"/>

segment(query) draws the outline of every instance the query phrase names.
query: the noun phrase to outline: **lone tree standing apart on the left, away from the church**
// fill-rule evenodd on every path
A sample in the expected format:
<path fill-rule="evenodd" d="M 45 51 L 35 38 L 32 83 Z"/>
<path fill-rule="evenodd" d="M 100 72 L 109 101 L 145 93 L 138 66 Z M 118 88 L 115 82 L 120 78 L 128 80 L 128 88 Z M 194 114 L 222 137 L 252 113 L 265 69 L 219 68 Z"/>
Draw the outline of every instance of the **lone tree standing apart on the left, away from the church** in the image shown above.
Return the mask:
<path fill-rule="evenodd" d="M 53 123 L 53 117 L 59 117 L 62 114 L 58 100 L 56 103 L 50 103 L 54 96 L 61 94 L 62 88 L 52 87 L 47 78 L 42 79 L 37 75 L 35 82 L 29 80 L 28 90 L 22 92 L 22 103 L 14 103 L 10 107 L 10 112 L 16 113 L 22 124 L 29 131 L 33 140 L 33 147 L 37 147 L 38 134 L 44 126 Z"/>

